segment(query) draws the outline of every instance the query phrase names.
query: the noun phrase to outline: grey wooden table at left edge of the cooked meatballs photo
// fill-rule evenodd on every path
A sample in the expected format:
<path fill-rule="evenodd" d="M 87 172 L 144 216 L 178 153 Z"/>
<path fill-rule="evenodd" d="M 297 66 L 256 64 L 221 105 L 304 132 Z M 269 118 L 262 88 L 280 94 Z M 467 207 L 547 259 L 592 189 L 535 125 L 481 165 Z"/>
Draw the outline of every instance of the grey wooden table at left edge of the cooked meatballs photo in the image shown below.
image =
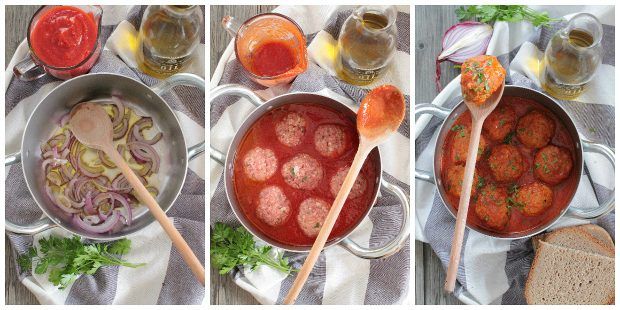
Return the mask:
<path fill-rule="evenodd" d="M 441 37 L 457 23 L 454 10 L 458 6 L 415 7 L 415 103 L 428 103 L 437 96 L 435 58 L 441 52 Z M 449 63 L 441 65 L 441 84 L 447 85 L 459 74 Z M 444 293 L 446 272 L 430 245 L 415 242 L 416 304 L 462 304 Z"/>

